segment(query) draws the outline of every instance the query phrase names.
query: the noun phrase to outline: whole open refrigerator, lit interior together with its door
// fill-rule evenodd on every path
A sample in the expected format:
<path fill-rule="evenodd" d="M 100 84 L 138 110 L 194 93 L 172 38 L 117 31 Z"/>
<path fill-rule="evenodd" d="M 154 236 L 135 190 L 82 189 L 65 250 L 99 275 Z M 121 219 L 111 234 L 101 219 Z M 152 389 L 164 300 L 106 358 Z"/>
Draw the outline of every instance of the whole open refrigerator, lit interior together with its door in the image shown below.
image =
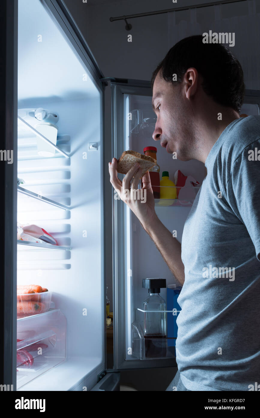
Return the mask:
<path fill-rule="evenodd" d="M 105 78 L 62 0 L 5 0 L 0 8 L 6 60 L 0 116 L 2 382 L 18 391 L 119 390 L 122 370 L 177 366 L 176 336 L 165 338 L 166 355 L 146 356 L 142 327 L 148 294 L 142 279 L 178 282 L 138 219 L 115 199 L 112 186 L 105 199 L 104 116 L 111 112 L 109 161 L 125 150 L 143 154 L 145 146 L 156 145 L 150 82 Z M 105 89 L 111 89 L 110 107 Z M 259 100 L 258 91 L 247 91 L 242 113 L 259 115 Z M 202 163 L 192 161 L 187 169 L 163 149 L 157 159 L 160 172 L 169 171 L 170 178 L 186 171 L 201 185 L 206 175 Z M 187 200 L 155 201 L 158 217 L 177 231 L 180 242 L 195 189 Z M 109 237 L 106 224 L 112 224 Z M 37 225 L 57 245 L 21 240 L 17 225 Z M 106 252 L 112 254 L 108 264 Z M 110 270 L 113 358 L 108 367 Z M 32 297 L 29 303 L 17 295 L 17 285 L 32 283 L 47 289 L 33 295 L 38 297 L 33 304 Z M 166 288 L 160 294 L 167 299 Z M 26 309 L 35 305 L 38 311 L 28 315 Z"/>

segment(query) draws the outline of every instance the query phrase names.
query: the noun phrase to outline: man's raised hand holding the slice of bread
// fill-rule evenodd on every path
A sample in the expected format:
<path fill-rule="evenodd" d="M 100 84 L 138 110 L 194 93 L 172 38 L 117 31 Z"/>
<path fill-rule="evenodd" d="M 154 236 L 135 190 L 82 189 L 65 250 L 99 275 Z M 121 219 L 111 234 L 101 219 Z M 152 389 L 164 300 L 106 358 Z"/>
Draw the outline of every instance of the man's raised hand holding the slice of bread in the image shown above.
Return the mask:
<path fill-rule="evenodd" d="M 125 175 L 123 181 L 119 180 L 117 177 L 117 159 L 113 158 L 112 163 L 108 163 L 108 166 L 110 173 L 110 183 L 117 191 L 120 199 L 130 207 L 133 213 L 138 217 L 141 224 L 143 224 L 143 227 L 145 227 L 145 225 L 148 226 L 153 221 L 153 219 L 157 217 L 155 213 L 155 200 L 153 197 L 153 189 L 151 186 L 149 172 L 145 173 L 142 178 L 142 201 L 141 199 L 134 199 L 133 196 L 136 196 L 135 194 L 132 196 L 132 198 L 130 196 L 131 189 L 138 190 L 139 178 L 142 173 L 142 168 L 140 168 L 140 165 L 135 163 L 135 165 L 130 168 L 128 173 Z M 126 191 L 129 191 L 129 193 L 127 194 Z M 146 197 L 146 201 L 144 196 Z"/>

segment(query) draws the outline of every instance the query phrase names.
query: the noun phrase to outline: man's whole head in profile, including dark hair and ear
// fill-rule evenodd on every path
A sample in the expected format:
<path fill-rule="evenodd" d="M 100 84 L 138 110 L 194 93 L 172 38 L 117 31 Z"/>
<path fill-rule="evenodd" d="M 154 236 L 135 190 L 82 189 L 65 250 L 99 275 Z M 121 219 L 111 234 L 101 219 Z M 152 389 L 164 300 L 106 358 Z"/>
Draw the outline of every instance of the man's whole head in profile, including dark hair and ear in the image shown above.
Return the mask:
<path fill-rule="evenodd" d="M 245 89 L 238 60 L 223 44 L 203 43 L 201 35 L 176 43 L 151 83 L 157 115 L 153 138 L 183 161 L 196 158 L 205 126 L 217 122 L 218 112 L 240 112 Z"/>

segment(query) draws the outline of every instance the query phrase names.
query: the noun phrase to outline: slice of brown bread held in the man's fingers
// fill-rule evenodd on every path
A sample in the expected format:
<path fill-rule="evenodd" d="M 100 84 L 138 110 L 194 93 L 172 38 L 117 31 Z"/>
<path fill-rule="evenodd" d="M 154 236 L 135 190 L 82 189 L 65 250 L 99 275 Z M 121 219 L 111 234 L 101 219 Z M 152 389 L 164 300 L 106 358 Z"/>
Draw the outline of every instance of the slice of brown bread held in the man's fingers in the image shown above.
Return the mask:
<path fill-rule="evenodd" d="M 119 160 L 117 160 L 117 173 L 128 173 L 135 163 L 139 163 L 140 167 L 143 168 L 140 176 L 142 178 L 150 168 L 157 164 L 157 161 L 148 155 L 143 155 L 136 151 L 124 151 Z"/>

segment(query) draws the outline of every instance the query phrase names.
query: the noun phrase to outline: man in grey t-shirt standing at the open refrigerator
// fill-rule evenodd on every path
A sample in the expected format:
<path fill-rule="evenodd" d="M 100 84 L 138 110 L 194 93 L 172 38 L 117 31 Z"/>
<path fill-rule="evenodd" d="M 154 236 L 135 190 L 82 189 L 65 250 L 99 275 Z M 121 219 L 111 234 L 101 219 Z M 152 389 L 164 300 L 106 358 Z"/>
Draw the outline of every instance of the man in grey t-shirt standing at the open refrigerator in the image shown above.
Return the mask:
<path fill-rule="evenodd" d="M 146 204 L 124 201 L 183 285 L 178 373 L 168 390 L 252 390 L 260 383 L 260 117 L 239 115 L 238 60 L 224 45 L 202 39 L 178 42 L 152 77 L 153 139 L 179 160 L 196 159 L 207 168 L 182 243 L 155 213 L 149 173 L 143 176 Z M 113 158 L 115 189 L 138 188 L 138 165 L 122 184 L 116 168 Z"/>

